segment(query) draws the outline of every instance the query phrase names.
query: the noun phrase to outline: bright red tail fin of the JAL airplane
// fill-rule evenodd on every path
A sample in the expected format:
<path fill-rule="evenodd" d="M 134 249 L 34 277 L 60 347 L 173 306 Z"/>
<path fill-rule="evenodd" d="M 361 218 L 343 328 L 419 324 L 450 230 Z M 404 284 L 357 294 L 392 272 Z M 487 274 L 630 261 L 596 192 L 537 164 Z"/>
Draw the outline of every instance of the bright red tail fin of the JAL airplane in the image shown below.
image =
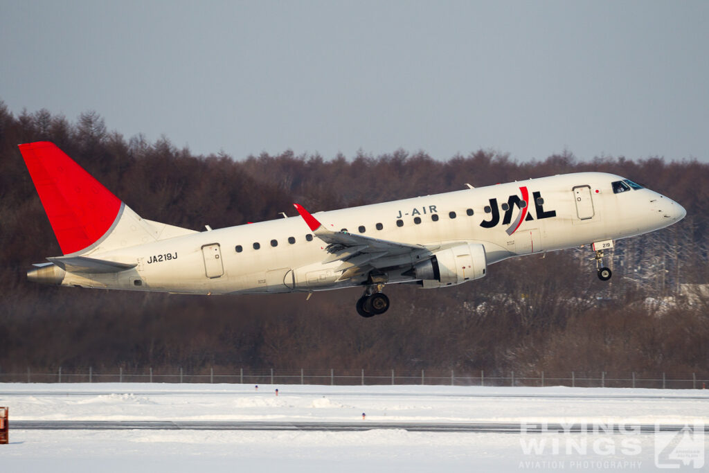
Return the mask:
<path fill-rule="evenodd" d="M 54 143 L 19 148 L 62 252 L 83 250 L 104 236 L 116 221 L 121 199 Z"/>

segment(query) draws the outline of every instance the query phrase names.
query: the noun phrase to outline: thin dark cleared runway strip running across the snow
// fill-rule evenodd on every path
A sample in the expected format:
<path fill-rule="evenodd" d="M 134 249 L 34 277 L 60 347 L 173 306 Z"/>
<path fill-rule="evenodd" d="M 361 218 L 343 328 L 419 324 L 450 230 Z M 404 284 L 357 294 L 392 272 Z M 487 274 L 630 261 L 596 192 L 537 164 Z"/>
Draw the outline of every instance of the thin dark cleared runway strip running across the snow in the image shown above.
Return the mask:
<path fill-rule="evenodd" d="M 474 433 L 656 433 L 678 432 L 680 424 L 598 423 L 425 423 L 425 422 L 267 422 L 267 421 L 11 421 L 11 430 L 310 430 Z M 709 424 L 704 427 L 709 432 Z"/>

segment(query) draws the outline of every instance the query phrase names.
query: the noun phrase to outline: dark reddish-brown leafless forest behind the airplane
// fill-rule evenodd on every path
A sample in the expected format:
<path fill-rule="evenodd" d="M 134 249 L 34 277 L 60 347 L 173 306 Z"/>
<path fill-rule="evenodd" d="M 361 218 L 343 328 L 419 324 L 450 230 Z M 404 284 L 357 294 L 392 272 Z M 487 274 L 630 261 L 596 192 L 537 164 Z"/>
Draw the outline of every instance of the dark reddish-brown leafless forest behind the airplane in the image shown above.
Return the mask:
<path fill-rule="evenodd" d="M 513 130 L 510 130 L 513 133 Z M 616 242 L 613 279 L 589 247 L 506 260 L 445 289 L 387 286 L 384 316 L 357 316 L 359 289 L 189 296 L 33 284 L 26 271 L 61 255 L 17 145 L 50 140 L 140 216 L 201 230 L 311 211 L 595 170 L 678 201 L 680 223 Z M 678 159 L 681 158 L 681 159 Z M 513 160 L 504 152 L 432 157 L 194 155 L 43 109 L 0 101 L 0 372 L 56 367 L 185 369 L 456 369 L 668 372 L 709 377 L 709 165 L 571 152 Z M 691 375 L 690 375 L 691 377 Z"/>

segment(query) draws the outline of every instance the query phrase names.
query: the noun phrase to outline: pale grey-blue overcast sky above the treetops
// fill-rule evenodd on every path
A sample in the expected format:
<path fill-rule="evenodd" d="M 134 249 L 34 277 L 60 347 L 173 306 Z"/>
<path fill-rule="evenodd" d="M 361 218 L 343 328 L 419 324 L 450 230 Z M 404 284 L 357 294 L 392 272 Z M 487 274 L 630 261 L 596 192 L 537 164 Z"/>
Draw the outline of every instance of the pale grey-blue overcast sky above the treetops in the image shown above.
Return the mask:
<path fill-rule="evenodd" d="M 709 1 L 0 0 L 0 100 L 199 154 L 709 161 Z"/>

